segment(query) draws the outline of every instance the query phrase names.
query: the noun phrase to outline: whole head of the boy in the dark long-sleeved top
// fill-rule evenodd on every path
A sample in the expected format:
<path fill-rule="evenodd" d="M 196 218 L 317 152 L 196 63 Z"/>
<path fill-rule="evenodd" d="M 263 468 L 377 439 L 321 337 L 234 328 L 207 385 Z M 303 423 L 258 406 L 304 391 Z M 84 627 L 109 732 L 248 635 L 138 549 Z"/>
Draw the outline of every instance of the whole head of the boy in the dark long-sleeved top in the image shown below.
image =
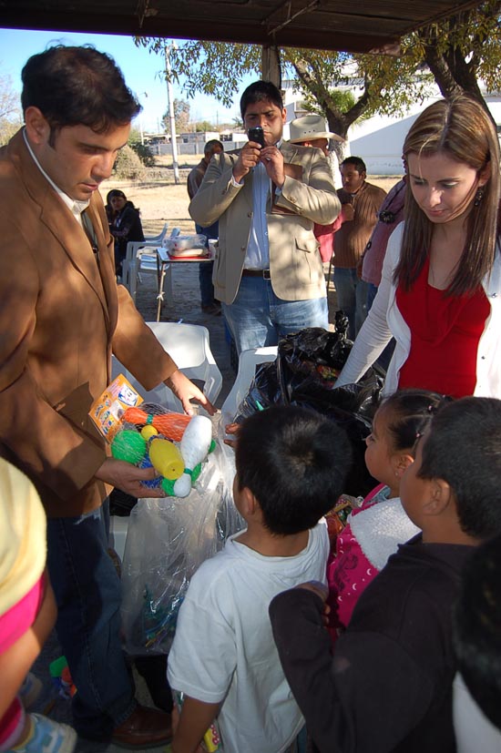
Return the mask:
<path fill-rule="evenodd" d="M 438 412 L 400 486 L 420 528 L 483 540 L 501 534 L 501 401 L 466 397 Z M 438 540 L 438 539 L 436 539 Z M 453 543 L 453 542 L 451 542 Z"/>

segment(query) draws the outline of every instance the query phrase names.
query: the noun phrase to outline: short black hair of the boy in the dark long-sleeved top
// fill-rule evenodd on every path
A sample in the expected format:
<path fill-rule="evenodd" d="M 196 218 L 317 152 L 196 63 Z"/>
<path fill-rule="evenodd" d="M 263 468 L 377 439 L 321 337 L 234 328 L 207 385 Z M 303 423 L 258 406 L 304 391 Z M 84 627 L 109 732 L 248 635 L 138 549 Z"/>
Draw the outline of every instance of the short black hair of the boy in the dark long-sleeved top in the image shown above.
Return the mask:
<path fill-rule="evenodd" d="M 437 412 L 418 476 L 449 484 L 465 534 L 501 534 L 501 401 L 465 397 Z"/>

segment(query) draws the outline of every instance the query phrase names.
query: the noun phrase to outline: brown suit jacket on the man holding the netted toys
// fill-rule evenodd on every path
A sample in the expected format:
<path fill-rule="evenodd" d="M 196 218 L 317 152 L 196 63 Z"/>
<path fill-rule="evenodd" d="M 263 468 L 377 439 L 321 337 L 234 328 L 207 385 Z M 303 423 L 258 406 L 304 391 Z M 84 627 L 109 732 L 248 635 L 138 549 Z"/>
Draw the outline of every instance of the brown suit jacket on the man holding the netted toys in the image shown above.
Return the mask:
<path fill-rule="evenodd" d="M 117 286 L 96 192 L 87 235 L 37 168 L 19 131 L 0 149 L 0 455 L 24 471 L 52 517 L 95 509 L 107 443 L 88 416 L 111 354 L 152 389 L 176 365 Z"/>

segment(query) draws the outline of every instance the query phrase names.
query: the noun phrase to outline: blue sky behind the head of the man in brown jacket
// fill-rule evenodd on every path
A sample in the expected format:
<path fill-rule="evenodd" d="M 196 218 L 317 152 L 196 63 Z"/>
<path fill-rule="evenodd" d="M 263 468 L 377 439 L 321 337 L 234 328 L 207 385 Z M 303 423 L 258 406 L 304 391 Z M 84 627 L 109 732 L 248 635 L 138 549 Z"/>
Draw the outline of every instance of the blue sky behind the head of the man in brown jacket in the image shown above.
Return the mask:
<path fill-rule="evenodd" d="M 131 36 L 104 34 L 70 34 L 68 32 L 25 31 L 0 29 L 0 73 L 10 76 L 12 86 L 21 90 L 21 70 L 29 56 L 42 52 L 49 43 L 63 45 L 94 45 L 98 50 L 113 56 L 122 69 L 128 86 L 136 93 L 143 106 L 139 116 L 140 125 L 148 131 L 156 131 L 158 122 L 167 110 L 167 85 L 159 76 L 163 69 L 163 57 L 137 47 Z M 174 97 L 188 99 L 179 86 L 173 86 Z M 223 107 L 213 97 L 197 95 L 189 99 L 192 120 L 210 120 L 213 123 L 231 122 L 238 112 L 238 97 L 230 109 Z M 139 123 L 137 123 L 139 127 Z"/>

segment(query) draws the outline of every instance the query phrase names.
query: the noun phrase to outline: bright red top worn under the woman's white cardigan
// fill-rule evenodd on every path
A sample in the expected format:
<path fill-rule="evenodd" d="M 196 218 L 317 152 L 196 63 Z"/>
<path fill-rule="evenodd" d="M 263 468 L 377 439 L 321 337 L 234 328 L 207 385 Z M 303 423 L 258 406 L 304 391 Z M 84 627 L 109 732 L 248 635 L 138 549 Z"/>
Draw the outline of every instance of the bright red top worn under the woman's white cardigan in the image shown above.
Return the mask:
<path fill-rule="evenodd" d="M 490 305 L 483 288 L 473 295 L 446 296 L 428 284 L 430 262 L 411 290 L 399 285 L 396 303 L 411 331 L 411 350 L 398 386 L 432 390 L 455 398 L 473 395 L 476 353 Z"/>

